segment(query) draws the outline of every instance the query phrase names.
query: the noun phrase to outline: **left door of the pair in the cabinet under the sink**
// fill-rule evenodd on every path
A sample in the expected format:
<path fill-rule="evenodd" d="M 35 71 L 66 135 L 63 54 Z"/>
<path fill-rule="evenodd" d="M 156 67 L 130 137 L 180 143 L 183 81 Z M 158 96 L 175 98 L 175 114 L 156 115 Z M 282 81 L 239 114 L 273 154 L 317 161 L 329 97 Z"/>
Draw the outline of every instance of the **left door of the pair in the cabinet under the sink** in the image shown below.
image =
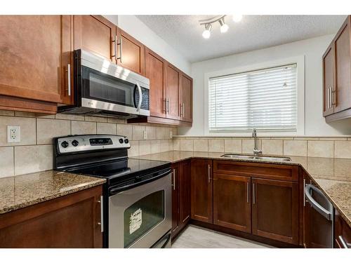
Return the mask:
<path fill-rule="evenodd" d="M 213 174 L 213 224 L 251 233 L 250 177 Z"/>

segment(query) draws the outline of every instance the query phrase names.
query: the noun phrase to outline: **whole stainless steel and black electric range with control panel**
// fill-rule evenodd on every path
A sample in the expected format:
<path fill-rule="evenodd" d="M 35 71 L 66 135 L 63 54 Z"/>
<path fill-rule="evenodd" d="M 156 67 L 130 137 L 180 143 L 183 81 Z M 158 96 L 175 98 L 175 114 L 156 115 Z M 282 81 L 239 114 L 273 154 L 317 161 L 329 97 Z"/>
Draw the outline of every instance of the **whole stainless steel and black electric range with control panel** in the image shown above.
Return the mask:
<path fill-rule="evenodd" d="M 171 163 L 128 158 L 128 138 L 74 135 L 54 139 L 55 170 L 106 178 L 105 248 L 171 246 Z"/>

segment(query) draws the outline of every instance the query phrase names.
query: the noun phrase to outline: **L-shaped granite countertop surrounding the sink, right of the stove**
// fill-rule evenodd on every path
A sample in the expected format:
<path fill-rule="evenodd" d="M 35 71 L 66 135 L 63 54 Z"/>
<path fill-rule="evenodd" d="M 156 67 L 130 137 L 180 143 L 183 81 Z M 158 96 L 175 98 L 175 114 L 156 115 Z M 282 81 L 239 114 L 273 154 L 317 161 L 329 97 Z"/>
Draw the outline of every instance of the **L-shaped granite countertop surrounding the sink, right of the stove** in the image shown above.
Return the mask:
<path fill-rule="evenodd" d="M 284 156 L 291 161 L 262 161 L 248 159 L 228 159 L 220 157 L 225 153 L 203 151 L 166 151 L 133 157 L 139 159 L 170 161 L 176 163 L 190 158 L 218 159 L 227 161 L 247 161 L 258 163 L 277 163 L 302 167 L 329 201 L 339 211 L 351 227 L 351 159 Z"/>

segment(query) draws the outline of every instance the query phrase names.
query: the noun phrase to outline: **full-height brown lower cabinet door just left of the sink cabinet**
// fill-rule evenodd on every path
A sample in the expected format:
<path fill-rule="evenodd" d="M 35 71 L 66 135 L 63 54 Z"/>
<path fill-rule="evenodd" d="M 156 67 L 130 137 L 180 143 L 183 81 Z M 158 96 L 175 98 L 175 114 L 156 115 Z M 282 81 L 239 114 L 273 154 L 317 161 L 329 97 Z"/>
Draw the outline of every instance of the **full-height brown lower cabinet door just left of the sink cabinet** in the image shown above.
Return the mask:
<path fill-rule="evenodd" d="M 191 217 L 212 223 L 212 161 L 194 159 L 191 163 Z"/>

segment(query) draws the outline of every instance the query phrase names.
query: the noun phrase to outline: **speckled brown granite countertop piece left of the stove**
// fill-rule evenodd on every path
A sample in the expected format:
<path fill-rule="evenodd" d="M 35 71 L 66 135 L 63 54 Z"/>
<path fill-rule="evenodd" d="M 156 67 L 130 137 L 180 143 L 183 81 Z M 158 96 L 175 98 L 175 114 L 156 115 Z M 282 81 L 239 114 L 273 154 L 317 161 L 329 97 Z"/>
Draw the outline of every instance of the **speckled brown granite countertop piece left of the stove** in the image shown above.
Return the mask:
<path fill-rule="evenodd" d="M 105 181 L 55 170 L 0 178 L 0 214 L 95 187 Z"/>

